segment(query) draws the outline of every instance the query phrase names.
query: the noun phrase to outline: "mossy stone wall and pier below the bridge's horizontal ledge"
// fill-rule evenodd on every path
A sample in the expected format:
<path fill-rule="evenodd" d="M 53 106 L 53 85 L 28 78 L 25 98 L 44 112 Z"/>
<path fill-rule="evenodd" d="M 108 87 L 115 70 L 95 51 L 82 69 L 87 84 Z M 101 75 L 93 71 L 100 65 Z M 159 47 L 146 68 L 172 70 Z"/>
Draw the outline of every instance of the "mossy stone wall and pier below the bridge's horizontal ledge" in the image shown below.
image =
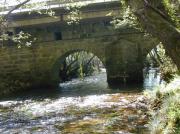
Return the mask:
<path fill-rule="evenodd" d="M 76 51 L 91 52 L 104 63 L 109 85 L 142 80 L 143 59 L 156 40 L 143 34 L 41 42 L 32 47 L 0 49 L 0 94 L 59 83 L 61 59 Z"/>

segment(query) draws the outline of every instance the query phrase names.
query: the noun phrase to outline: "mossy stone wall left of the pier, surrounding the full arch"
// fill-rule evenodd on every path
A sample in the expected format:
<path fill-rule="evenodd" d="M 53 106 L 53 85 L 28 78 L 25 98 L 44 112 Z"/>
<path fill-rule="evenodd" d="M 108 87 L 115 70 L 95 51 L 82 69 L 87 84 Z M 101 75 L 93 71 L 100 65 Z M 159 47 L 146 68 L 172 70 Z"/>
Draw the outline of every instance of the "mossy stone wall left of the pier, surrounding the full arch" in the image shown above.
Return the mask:
<path fill-rule="evenodd" d="M 67 40 L 34 44 L 29 48 L 0 49 L 0 93 L 13 90 L 58 85 L 63 57 L 75 51 L 88 51 L 105 63 L 105 46 L 101 39 Z"/>

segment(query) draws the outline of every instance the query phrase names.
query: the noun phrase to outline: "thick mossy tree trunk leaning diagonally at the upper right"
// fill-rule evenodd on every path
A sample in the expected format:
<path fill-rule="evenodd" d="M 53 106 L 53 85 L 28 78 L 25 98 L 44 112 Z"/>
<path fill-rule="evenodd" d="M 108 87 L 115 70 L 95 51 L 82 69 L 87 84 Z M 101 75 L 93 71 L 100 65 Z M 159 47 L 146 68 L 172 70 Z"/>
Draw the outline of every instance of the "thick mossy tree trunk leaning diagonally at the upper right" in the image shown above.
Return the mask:
<path fill-rule="evenodd" d="M 162 0 L 152 0 L 159 1 Z M 147 5 L 147 0 L 129 0 L 128 1 L 134 14 L 137 16 L 143 28 L 157 37 L 163 43 L 167 55 L 172 58 L 180 70 L 180 31 L 162 14 L 157 7 Z M 161 3 L 162 4 L 162 3 Z"/>

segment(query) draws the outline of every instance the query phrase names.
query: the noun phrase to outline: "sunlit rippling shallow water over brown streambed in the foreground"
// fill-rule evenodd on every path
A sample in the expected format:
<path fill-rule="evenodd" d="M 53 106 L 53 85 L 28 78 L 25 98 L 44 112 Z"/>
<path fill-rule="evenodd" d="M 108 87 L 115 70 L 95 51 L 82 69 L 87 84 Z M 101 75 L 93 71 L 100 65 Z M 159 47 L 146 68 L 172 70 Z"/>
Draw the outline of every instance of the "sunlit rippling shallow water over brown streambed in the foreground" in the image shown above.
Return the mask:
<path fill-rule="evenodd" d="M 0 126 L 0 133 L 5 132 L 2 128 L 11 128 L 17 133 L 131 134 L 146 131 L 148 120 L 146 98 L 134 93 L 9 101 L 0 103 L 0 107 L 12 112 L 0 113 L 6 116 L 0 123 L 8 121 Z"/>

